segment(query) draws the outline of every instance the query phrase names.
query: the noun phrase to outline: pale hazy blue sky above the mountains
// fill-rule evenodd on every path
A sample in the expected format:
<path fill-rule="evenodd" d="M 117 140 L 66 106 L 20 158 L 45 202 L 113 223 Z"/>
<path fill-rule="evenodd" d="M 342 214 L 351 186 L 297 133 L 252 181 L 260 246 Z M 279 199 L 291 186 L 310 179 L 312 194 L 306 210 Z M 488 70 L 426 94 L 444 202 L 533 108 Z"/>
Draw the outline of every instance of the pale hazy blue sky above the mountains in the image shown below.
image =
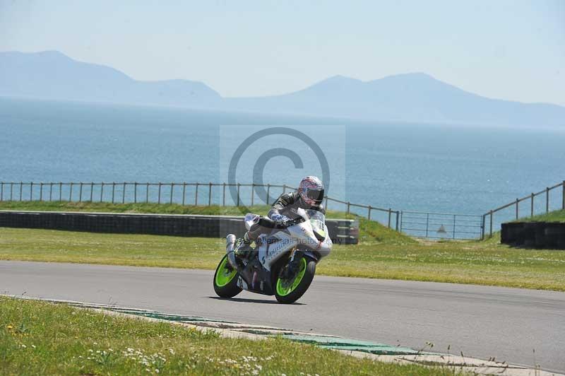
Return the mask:
<path fill-rule="evenodd" d="M 561 0 L 0 0 L 0 50 L 45 49 L 224 96 L 423 71 L 490 98 L 565 105 Z"/>

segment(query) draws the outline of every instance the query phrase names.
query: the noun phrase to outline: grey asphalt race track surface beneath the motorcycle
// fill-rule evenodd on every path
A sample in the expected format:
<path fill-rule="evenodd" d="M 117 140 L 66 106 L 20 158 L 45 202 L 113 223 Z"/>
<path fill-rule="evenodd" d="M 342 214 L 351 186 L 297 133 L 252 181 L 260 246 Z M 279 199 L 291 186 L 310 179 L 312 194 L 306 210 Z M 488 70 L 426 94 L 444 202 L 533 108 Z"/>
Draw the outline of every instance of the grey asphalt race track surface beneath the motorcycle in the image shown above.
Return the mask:
<path fill-rule="evenodd" d="M 0 261 L 0 293 L 334 334 L 565 373 L 565 293 L 316 276 L 295 305 L 215 297 L 213 271 Z M 1 311 L 1 309 L 0 309 Z"/>

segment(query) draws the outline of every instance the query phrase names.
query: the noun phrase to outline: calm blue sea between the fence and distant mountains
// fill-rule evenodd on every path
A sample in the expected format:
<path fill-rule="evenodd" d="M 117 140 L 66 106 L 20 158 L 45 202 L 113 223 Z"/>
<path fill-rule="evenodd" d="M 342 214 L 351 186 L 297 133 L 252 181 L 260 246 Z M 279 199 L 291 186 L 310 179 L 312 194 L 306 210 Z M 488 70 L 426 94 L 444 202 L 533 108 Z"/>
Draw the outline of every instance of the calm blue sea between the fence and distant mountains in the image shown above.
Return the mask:
<path fill-rule="evenodd" d="M 240 148 L 273 127 L 279 130 Z M 328 196 L 393 210 L 482 214 L 565 179 L 565 129 L 361 124 L 0 98 L 4 182 L 227 182 L 240 148 L 238 182 L 259 173 L 265 183 L 295 187 L 303 175 L 324 174 L 318 147 L 328 165 Z M 213 202 L 220 200 L 214 192 Z"/>

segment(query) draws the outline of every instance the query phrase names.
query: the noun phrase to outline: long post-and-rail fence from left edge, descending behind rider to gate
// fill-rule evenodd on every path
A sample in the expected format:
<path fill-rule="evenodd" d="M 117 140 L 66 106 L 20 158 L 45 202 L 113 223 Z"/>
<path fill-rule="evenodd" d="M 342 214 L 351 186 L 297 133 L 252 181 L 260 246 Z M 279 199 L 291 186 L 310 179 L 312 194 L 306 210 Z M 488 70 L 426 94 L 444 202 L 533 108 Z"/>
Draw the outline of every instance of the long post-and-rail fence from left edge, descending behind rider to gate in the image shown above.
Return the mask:
<path fill-rule="evenodd" d="M 232 201 L 226 189 L 237 188 L 237 195 Z M 256 187 L 266 189 L 263 197 L 255 192 Z M 218 194 L 218 188 L 221 193 Z M 157 204 L 194 204 L 194 205 L 233 205 L 244 206 L 243 194 L 249 195 L 249 204 L 258 204 L 256 199 L 268 203 L 272 190 L 285 193 L 296 188 L 286 184 L 254 184 L 254 183 L 201 183 L 201 182 L 0 182 L 0 201 L 75 201 L 75 202 L 112 202 L 126 203 L 157 203 Z M 189 192 L 192 190 L 193 192 Z M 244 192 L 247 190 L 248 192 Z M 280 194 L 279 193 L 279 194 Z M 215 195 L 216 194 L 216 195 Z M 388 228 L 398 230 L 400 211 L 391 208 L 353 204 L 324 196 L 326 209 L 337 205 L 347 214 L 355 213 L 369 220 L 379 221 Z M 364 213 L 355 211 L 364 209 Z M 338 209 L 334 209 L 338 210 Z M 355 212 L 354 212 L 355 211 Z M 379 219 L 375 214 L 379 213 Z"/>

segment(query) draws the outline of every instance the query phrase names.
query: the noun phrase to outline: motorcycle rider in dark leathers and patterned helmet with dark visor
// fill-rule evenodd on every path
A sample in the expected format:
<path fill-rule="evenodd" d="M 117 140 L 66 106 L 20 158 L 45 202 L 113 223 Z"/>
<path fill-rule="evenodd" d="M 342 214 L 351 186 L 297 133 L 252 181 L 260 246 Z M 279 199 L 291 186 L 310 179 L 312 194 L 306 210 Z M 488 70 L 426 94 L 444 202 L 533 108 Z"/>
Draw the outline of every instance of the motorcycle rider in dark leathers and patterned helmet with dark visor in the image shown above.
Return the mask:
<path fill-rule="evenodd" d="M 323 183 L 315 176 L 304 177 L 300 181 L 296 192 L 283 193 L 275 201 L 268 212 L 268 217 L 274 222 L 274 227 L 285 227 L 288 221 L 298 218 L 297 209 L 314 209 L 326 213 L 322 205 Z M 245 259 L 249 257 L 253 248 L 252 242 L 258 242 L 258 236 L 270 233 L 273 227 L 266 227 L 260 223 L 253 225 L 243 238 L 240 238 L 234 253 L 237 257 Z"/>

